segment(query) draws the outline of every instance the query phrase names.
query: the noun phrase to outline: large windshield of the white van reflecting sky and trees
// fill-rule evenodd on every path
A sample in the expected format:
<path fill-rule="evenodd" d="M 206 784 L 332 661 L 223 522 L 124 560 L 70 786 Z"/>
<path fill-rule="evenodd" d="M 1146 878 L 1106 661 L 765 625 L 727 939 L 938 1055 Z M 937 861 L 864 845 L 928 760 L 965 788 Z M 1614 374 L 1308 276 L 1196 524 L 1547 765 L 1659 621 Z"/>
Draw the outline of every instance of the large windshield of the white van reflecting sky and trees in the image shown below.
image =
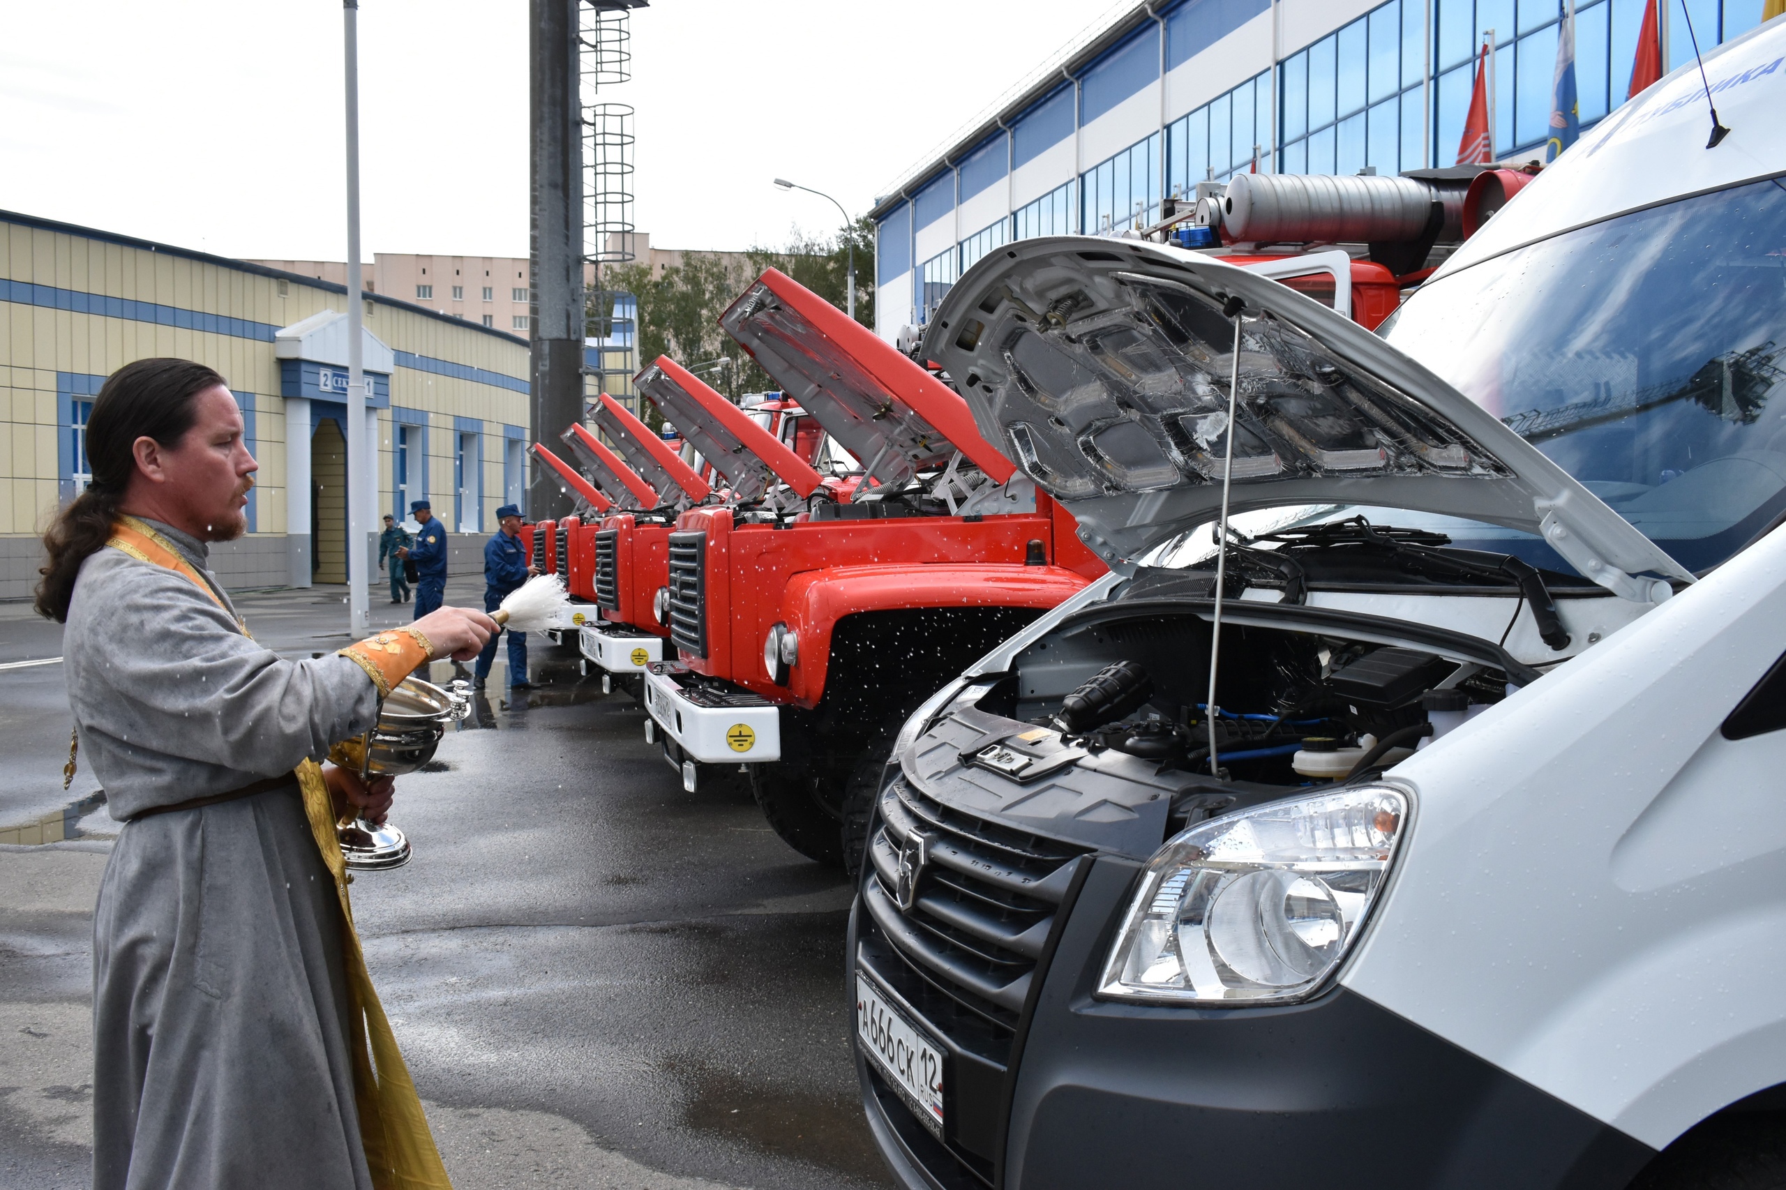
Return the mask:
<path fill-rule="evenodd" d="M 1786 188 L 1622 214 L 1429 282 L 1386 339 L 1690 570 L 1786 509 Z"/>

